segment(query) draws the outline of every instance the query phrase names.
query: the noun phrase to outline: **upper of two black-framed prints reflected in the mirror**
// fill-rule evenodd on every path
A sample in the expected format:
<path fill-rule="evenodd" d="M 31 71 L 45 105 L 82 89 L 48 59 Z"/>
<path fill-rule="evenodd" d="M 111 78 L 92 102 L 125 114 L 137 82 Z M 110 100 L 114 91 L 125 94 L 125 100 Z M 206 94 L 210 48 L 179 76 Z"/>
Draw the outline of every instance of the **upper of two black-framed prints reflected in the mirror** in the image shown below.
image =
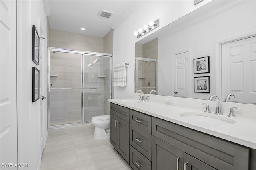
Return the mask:
<path fill-rule="evenodd" d="M 209 73 L 209 56 L 194 59 L 194 74 Z"/>

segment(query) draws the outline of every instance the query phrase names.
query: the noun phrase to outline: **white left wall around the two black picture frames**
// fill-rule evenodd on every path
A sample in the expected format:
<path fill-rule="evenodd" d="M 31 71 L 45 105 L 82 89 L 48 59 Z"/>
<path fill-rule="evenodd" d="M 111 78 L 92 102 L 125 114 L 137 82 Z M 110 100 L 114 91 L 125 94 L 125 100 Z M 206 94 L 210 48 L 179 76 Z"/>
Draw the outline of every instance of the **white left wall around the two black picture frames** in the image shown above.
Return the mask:
<path fill-rule="evenodd" d="M 40 136 L 43 128 L 47 135 L 47 114 L 40 115 L 40 100 L 32 103 L 32 67 L 44 70 L 46 65 L 39 66 L 32 61 L 32 25 L 39 31 L 41 23 L 45 39 L 42 56 L 47 57 L 47 24 L 42 0 L 17 2 L 17 101 L 18 101 L 18 162 L 28 163 L 27 168 L 39 169 L 41 165 Z M 46 62 L 45 62 L 46 63 Z M 40 76 L 42 72 L 40 72 Z M 42 79 L 43 81 L 46 78 Z M 42 84 L 46 84 L 43 82 Z M 40 87 L 40 88 L 46 88 Z M 46 95 L 46 94 L 45 94 Z M 45 109 L 46 111 L 46 109 Z M 41 127 L 41 119 L 43 126 Z"/>

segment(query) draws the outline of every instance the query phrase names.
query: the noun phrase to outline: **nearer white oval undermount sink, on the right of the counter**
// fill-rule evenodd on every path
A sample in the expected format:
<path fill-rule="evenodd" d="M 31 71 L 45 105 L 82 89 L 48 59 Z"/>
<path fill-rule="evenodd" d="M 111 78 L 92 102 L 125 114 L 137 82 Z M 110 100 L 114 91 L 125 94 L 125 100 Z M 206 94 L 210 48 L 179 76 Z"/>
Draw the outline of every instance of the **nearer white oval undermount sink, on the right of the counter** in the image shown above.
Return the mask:
<path fill-rule="evenodd" d="M 180 113 L 180 116 L 182 118 L 190 120 L 190 121 L 196 121 L 206 124 L 233 124 L 236 123 L 233 119 L 230 119 L 228 117 L 222 117 L 220 115 L 214 115 L 214 113 L 196 113 L 196 112 L 184 112 Z"/>

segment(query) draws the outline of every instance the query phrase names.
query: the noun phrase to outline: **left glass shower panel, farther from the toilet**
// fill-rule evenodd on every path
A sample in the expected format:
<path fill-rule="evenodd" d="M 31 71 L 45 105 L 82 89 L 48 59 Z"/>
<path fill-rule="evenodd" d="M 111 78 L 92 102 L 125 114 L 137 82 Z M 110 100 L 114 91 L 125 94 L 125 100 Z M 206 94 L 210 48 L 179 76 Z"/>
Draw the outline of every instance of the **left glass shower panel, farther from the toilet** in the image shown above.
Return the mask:
<path fill-rule="evenodd" d="M 82 56 L 50 51 L 50 126 L 82 122 Z"/>

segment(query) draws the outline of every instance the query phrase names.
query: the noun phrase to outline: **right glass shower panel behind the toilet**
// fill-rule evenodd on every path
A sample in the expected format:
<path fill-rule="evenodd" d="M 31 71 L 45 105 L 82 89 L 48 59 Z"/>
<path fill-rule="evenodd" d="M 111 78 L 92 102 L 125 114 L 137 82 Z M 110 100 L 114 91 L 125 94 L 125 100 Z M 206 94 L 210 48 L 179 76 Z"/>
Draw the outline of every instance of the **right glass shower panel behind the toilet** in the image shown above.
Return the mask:
<path fill-rule="evenodd" d="M 110 98 L 110 57 L 84 56 L 84 122 L 108 114 Z"/>

